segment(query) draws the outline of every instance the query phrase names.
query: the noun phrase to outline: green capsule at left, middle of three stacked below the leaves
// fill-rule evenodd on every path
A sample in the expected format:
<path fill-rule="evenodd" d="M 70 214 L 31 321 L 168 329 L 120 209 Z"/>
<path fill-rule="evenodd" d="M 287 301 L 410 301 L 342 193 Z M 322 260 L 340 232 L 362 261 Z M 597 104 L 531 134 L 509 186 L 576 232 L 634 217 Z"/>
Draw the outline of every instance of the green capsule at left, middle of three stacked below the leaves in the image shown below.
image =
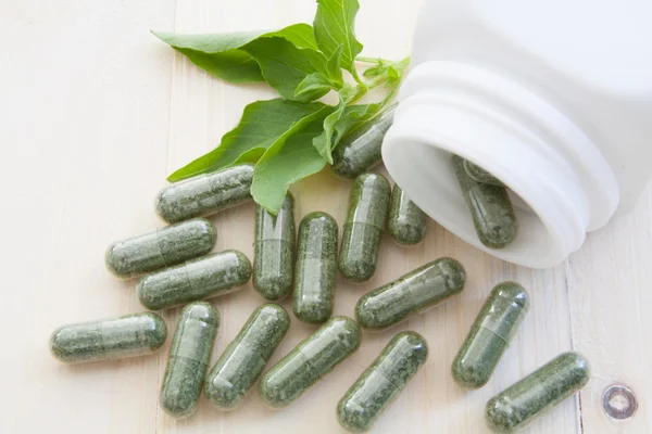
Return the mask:
<path fill-rule="evenodd" d="M 213 224 L 198 218 L 117 241 L 109 246 L 105 263 L 115 276 L 130 278 L 205 255 L 216 241 Z"/>

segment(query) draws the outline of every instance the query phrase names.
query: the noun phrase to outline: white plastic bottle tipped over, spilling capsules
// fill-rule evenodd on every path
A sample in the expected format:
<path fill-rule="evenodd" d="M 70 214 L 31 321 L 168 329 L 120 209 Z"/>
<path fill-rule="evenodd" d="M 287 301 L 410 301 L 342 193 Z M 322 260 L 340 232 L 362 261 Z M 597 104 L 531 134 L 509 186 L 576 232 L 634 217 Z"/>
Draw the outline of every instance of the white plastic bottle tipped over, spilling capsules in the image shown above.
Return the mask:
<path fill-rule="evenodd" d="M 478 248 L 536 268 L 563 261 L 652 174 L 651 20 L 650 0 L 425 0 L 387 169 Z M 479 242 L 450 153 L 515 193 L 514 244 Z"/>

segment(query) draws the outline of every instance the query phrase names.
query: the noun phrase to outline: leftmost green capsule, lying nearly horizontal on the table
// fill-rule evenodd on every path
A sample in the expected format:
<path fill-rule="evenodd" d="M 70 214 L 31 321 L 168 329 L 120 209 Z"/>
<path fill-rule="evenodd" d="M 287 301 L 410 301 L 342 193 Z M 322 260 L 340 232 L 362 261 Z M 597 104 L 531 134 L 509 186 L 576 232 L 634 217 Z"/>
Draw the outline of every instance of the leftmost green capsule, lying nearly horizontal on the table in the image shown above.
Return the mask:
<path fill-rule="evenodd" d="M 165 322 L 155 314 L 135 314 L 63 326 L 52 333 L 50 350 L 64 363 L 117 360 L 161 348 Z"/>

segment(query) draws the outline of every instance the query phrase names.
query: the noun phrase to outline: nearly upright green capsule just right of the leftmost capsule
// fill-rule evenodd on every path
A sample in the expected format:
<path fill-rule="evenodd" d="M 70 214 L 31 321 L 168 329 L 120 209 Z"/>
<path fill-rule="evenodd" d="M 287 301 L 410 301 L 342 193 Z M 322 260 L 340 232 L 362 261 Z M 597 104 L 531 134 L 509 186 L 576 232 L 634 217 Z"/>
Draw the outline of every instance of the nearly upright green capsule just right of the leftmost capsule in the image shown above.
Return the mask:
<path fill-rule="evenodd" d="M 172 340 L 159 400 L 175 418 L 187 418 L 197 409 L 215 343 L 220 314 L 205 302 L 184 307 Z"/>

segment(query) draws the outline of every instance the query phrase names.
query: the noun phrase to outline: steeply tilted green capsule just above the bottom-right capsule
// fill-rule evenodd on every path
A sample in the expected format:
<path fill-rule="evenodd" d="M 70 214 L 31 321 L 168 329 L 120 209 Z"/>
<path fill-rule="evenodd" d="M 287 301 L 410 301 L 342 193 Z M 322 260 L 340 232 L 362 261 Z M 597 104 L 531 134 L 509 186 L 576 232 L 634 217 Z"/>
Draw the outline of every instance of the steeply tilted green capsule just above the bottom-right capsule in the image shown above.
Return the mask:
<path fill-rule="evenodd" d="M 528 309 L 527 292 L 518 283 L 493 288 L 453 361 L 457 384 L 467 388 L 487 384 Z"/>

